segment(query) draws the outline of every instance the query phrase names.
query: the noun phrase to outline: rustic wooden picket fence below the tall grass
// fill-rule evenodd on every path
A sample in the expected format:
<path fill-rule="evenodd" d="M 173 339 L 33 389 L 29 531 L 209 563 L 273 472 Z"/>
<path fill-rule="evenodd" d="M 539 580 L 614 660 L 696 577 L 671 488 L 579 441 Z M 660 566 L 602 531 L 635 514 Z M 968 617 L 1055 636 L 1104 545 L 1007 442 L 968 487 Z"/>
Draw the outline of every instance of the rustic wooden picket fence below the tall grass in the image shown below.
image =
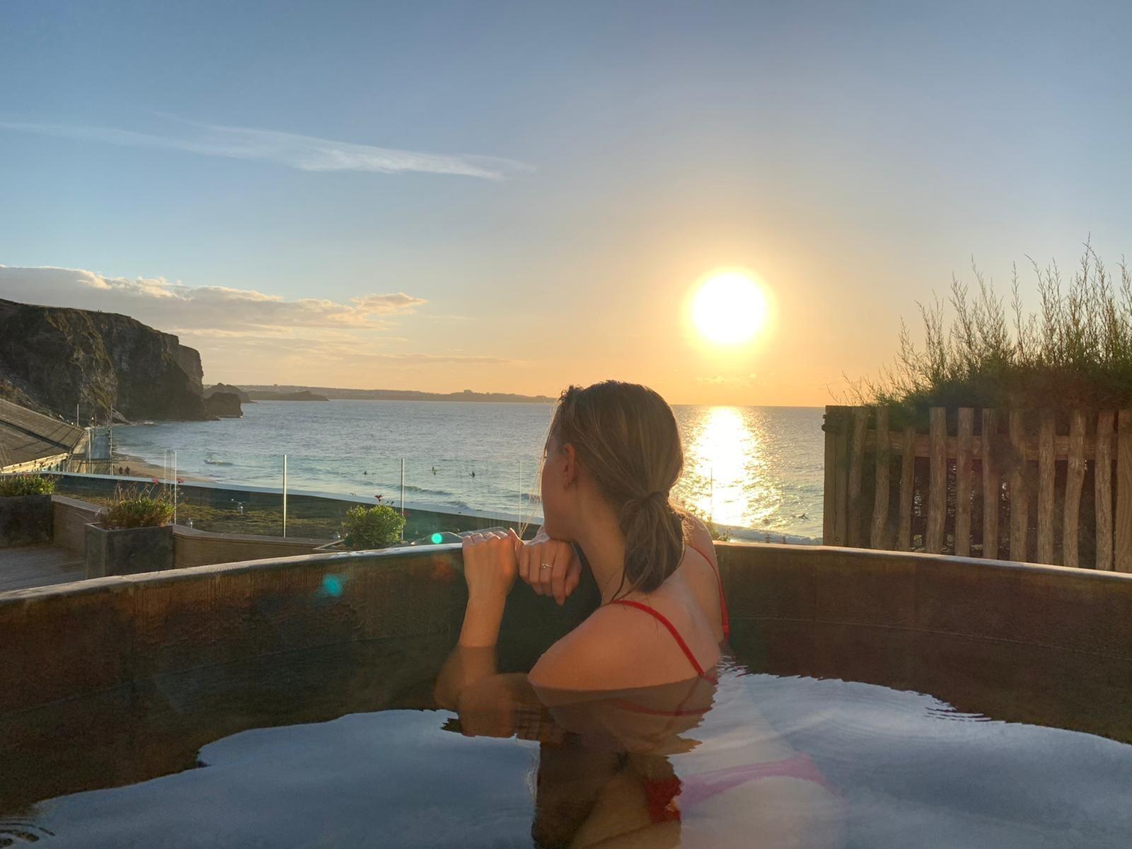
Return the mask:
<path fill-rule="evenodd" d="M 1132 411 L 825 408 L 832 546 L 1132 572 Z"/>

